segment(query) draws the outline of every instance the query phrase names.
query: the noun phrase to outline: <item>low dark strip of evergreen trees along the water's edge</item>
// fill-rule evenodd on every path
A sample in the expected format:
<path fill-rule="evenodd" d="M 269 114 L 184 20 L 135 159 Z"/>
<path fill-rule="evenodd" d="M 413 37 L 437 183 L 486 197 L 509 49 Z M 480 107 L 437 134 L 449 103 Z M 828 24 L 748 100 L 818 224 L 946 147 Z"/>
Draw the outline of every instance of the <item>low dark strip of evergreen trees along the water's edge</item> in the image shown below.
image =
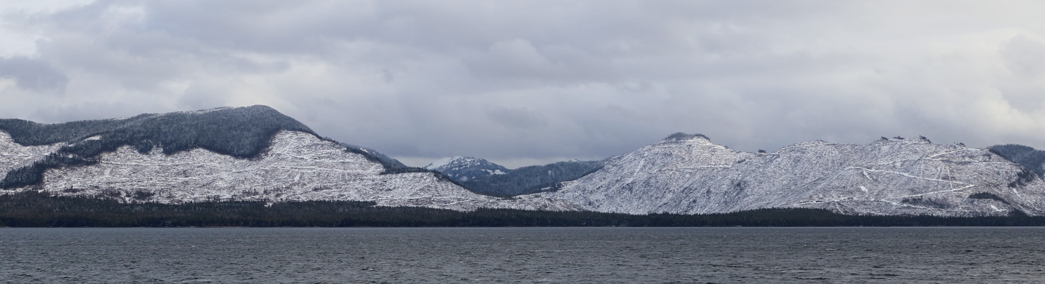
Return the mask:
<path fill-rule="evenodd" d="M 1045 226 L 1045 217 L 856 216 L 816 209 L 627 215 L 377 207 L 366 202 L 123 204 L 27 191 L 0 195 L 3 227 L 840 227 Z"/>

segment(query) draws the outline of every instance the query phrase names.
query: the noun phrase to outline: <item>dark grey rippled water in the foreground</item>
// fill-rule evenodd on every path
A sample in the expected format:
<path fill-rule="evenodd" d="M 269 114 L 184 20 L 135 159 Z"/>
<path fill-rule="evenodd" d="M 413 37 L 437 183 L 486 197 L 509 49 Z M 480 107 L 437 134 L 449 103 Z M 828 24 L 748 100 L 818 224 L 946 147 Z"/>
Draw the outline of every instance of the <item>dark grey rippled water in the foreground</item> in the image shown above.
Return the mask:
<path fill-rule="evenodd" d="M 1036 283 L 1045 228 L 0 229 L 4 283 Z"/>

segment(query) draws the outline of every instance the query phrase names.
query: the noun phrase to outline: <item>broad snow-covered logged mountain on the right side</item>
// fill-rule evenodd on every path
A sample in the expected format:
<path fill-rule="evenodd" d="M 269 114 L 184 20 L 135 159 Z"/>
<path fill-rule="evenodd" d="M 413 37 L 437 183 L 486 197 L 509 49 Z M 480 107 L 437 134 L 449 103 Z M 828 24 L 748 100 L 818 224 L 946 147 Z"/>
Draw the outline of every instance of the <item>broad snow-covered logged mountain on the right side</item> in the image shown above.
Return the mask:
<path fill-rule="evenodd" d="M 925 138 L 743 152 L 675 134 L 536 196 L 629 214 L 821 208 L 846 214 L 1045 214 L 1045 182 L 988 149 Z"/>

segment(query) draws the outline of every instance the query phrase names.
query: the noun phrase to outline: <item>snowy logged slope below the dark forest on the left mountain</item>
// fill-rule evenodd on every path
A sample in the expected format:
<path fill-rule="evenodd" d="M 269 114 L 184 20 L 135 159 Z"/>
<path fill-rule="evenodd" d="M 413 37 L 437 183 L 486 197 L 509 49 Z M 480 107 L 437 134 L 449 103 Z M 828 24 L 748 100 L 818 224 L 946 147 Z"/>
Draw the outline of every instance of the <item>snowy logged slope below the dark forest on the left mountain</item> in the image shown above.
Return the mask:
<path fill-rule="evenodd" d="M 17 147 L 15 147 L 17 148 Z M 19 152 L 26 152 L 24 149 Z M 379 206 L 452 210 L 515 208 L 576 210 L 570 204 L 530 197 L 480 195 L 431 172 L 381 174 L 379 163 L 315 135 L 284 131 L 255 159 L 196 148 L 164 155 L 131 146 L 102 153 L 97 164 L 48 169 L 42 185 L 57 195 L 108 196 L 124 202 L 373 200 Z"/>

